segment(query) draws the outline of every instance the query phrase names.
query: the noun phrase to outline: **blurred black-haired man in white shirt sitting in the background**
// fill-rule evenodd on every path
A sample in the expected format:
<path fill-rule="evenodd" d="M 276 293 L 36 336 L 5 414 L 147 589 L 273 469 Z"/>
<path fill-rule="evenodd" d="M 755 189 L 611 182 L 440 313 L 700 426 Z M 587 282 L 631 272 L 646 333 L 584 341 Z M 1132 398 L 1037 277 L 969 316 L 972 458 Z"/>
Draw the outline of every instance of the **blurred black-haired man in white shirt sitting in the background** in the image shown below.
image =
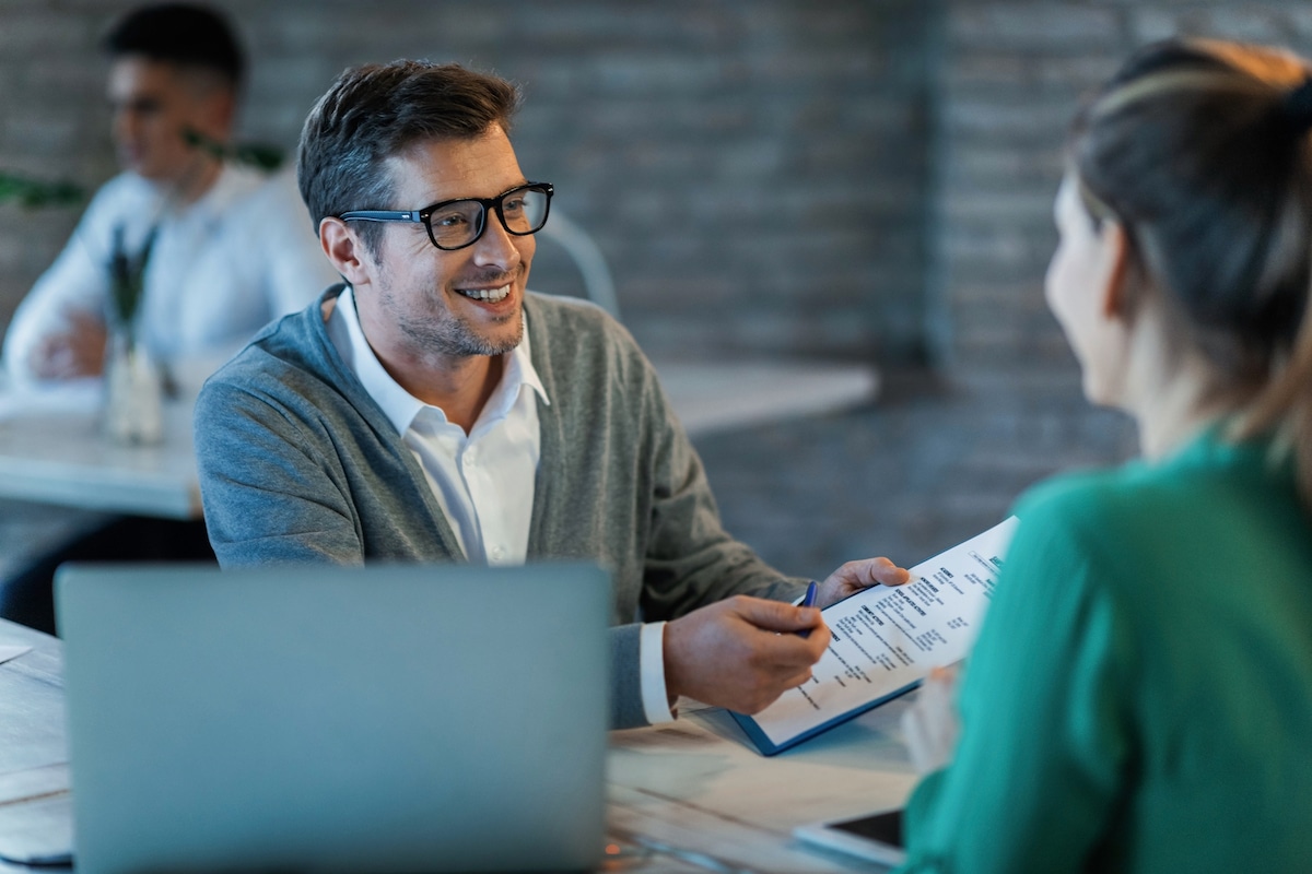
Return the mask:
<path fill-rule="evenodd" d="M 123 173 L 100 189 L 20 305 L 4 360 L 18 384 L 98 375 L 117 256 L 140 273 L 127 313 L 136 337 L 194 388 L 336 274 L 290 174 L 231 160 L 244 58 L 223 17 L 186 4 L 143 7 L 112 28 L 104 47 Z"/>

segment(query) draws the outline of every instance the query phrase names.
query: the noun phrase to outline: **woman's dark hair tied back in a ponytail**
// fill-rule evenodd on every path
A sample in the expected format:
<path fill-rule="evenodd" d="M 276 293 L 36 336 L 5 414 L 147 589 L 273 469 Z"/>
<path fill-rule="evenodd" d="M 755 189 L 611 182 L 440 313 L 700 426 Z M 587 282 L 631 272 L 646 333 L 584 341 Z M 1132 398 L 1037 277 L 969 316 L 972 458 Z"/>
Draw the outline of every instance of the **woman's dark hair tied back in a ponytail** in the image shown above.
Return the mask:
<path fill-rule="evenodd" d="M 1173 338 L 1242 398 L 1236 436 L 1275 431 L 1312 506 L 1312 84 L 1282 51 L 1143 48 L 1076 119 L 1071 160 L 1094 220 L 1176 313 Z"/>

